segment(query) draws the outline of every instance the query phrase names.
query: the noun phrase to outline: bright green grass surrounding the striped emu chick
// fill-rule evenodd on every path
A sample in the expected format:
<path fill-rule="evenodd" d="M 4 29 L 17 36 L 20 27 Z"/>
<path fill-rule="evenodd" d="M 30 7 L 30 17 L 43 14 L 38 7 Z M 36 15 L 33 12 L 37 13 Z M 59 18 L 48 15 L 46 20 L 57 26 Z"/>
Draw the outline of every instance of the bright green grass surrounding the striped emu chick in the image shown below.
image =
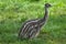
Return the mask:
<path fill-rule="evenodd" d="M 46 2 L 53 7 L 40 35 L 18 38 L 23 22 L 43 18 Z M 0 0 L 0 44 L 66 44 L 66 0 Z"/>

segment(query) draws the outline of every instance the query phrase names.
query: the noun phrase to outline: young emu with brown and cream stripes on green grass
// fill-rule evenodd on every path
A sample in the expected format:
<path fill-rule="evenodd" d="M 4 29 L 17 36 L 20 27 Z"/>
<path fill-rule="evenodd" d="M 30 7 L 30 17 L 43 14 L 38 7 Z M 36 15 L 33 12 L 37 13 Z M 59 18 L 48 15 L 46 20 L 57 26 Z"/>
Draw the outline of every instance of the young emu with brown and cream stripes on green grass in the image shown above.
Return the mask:
<path fill-rule="evenodd" d="M 20 38 L 34 38 L 38 35 L 41 28 L 45 24 L 48 18 L 50 3 L 45 3 L 45 15 L 42 19 L 30 20 L 23 23 L 19 32 Z"/>

